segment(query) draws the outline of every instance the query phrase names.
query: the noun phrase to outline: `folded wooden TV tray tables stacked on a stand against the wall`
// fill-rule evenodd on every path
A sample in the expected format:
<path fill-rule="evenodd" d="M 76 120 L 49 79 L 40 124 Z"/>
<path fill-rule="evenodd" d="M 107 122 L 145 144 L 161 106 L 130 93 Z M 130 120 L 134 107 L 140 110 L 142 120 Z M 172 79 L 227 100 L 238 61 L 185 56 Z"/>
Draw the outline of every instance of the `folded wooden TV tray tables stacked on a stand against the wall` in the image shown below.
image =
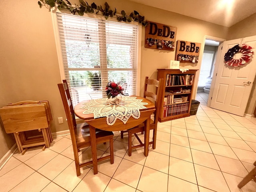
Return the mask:
<path fill-rule="evenodd" d="M 13 133 L 18 150 L 22 155 L 28 147 L 44 145 L 42 150 L 50 147 L 53 140 L 50 130 L 52 114 L 49 102 L 22 101 L 0 108 L 0 117 L 6 133 Z M 27 138 L 26 131 L 38 130 L 41 136 Z"/>

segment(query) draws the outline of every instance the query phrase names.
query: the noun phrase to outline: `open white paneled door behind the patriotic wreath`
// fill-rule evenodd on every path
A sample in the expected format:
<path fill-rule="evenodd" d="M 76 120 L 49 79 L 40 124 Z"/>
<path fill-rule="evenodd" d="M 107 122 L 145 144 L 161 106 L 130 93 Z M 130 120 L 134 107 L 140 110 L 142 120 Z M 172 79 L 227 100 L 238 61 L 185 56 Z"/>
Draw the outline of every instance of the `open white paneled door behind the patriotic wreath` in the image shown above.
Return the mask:
<path fill-rule="evenodd" d="M 228 66 L 224 63 L 224 55 L 228 49 L 237 44 L 250 45 L 256 50 L 256 36 L 223 42 L 220 60 L 212 92 L 210 107 L 239 116 L 244 116 L 247 102 L 256 75 L 256 59 L 240 67 Z M 254 56 L 255 57 L 255 56 Z M 250 83 L 251 82 L 251 83 Z"/>

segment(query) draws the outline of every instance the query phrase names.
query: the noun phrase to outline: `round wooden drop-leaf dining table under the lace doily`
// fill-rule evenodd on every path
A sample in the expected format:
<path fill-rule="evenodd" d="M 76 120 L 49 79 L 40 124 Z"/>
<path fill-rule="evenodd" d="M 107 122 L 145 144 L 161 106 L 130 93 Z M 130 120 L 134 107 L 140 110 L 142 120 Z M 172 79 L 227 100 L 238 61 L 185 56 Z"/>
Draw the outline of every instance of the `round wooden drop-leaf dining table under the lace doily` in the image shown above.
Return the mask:
<path fill-rule="evenodd" d="M 130 97 L 136 97 L 136 99 L 141 99 L 142 102 L 146 102 L 148 104 L 144 105 L 146 107 L 145 109 L 140 109 L 140 118 L 135 119 L 132 116 L 130 116 L 126 124 L 124 124 L 124 122 L 122 122 L 121 120 L 117 119 L 113 125 L 108 125 L 106 121 L 106 117 L 94 118 L 93 113 L 84 114 L 83 112 L 85 111 L 85 109 L 83 109 L 82 107 L 84 106 L 84 103 L 90 102 L 90 100 L 79 102 L 74 108 L 74 113 L 76 114 L 76 116 L 78 116 L 78 118 L 88 123 L 90 127 L 90 139 L 91 139 L 94 174 L 98 173 L 97 152 L 96 152 L 96 133 L 95 133 L 96 128 L 100 130 L 106 130 L 106 131 L 122 131 L 122 130 L 128 130 L 130 128 L 134 128 L 135 126 L 144 122 L 145 124 L 144 155 L 148 156 L 150 116 L 156 110 L 156 108 L 152 101 L 144 97 L 140 97 L 140 96 L 130 96 Z"/>

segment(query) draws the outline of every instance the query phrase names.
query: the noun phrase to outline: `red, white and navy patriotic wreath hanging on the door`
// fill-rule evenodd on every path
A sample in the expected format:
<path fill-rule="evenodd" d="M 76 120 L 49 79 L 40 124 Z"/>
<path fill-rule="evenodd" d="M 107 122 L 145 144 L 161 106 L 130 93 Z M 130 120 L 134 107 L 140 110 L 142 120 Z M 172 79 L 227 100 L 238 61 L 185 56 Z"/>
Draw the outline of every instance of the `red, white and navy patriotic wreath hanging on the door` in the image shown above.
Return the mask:
<path fill-rule="evenodd" d="M 233 58 L 235 54 L 241 53 L 240 58 Z M 246 44 L 242 44 L 242 46 L 236 45 L 228 50 L 224 56 L 225 63 L 228 66 L 239 67 L 248 63 L 252 59 L 252 55 L 254 52 L 252 51 L 252 47 Z"/>

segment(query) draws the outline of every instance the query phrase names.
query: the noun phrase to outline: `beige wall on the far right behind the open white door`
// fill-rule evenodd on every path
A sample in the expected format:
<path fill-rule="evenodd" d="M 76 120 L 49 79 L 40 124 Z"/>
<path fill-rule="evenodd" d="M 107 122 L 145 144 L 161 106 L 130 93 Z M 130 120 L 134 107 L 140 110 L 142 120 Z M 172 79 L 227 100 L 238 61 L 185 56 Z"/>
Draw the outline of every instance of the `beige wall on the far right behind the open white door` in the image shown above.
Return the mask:
<path fill-rule="evenodd" d="M 231 26 L 228 30 L 227 40 L 238 39 L 256 35 L 256 14 Z M 254 53 L 255 57 L 255 53 Z M 246 114 L 253 114 L 256 107 L 256 78 L 252 84 L 252 92 L 245 110 Z"/>

